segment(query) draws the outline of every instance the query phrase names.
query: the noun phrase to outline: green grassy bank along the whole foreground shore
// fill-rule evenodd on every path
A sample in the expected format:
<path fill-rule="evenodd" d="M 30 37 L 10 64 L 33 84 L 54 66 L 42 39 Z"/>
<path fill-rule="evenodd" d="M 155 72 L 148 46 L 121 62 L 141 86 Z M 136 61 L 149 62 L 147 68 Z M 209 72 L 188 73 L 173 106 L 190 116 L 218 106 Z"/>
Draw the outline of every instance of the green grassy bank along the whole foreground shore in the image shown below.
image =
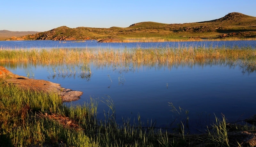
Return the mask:
<path fill-rule="evenodd" d="M 183 122 L 169 132 L 151 123 L 145 127 L 139 115 L 136 122 L 117 124 L 110 98 L 103 100 L 109 111 L 99 120 L 94 99 L 66 107 L 56 94 L 22 90 L 3 81 L 0 94 L 0 146 L 233 146 L 231 140 L 239 136 L 232 138 L 229 132 L 255 130 L 227 124 L 223 116 L 204 134 L 188 135 Z"/>

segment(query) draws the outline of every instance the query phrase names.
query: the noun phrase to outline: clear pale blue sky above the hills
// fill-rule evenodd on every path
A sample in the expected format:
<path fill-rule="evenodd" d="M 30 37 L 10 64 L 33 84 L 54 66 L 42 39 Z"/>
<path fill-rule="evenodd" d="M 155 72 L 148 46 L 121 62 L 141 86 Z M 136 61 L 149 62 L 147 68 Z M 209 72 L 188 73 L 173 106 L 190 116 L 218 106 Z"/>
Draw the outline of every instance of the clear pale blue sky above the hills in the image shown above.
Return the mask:
<path fill-rule="evenodd" d="M 256 0 L 3 0 L 0 30 L 44 32 L 63 25 L 128 27 L 144 21 L 190 23 L 230 12 L 256 17 Z"/>

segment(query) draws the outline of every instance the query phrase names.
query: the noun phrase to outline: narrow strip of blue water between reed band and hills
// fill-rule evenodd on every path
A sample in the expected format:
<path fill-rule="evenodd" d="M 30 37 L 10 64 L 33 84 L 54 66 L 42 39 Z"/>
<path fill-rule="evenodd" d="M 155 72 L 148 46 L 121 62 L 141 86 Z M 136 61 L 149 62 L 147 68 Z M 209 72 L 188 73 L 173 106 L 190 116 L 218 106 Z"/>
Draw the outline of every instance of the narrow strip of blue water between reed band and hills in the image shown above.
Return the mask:
<path fill-rule="evenodd" d="M 185 42 L 135 42 L 135 43 L 98 43 L 96 40 L 78 41 L 0 41 L 0 48 L 96 48 L 96 49 L 131 49 L 131 48 L 165 48 L 165 47 L 247 47 L 255 48 L 256 40 L 244 41 L 185 41 Z"/>

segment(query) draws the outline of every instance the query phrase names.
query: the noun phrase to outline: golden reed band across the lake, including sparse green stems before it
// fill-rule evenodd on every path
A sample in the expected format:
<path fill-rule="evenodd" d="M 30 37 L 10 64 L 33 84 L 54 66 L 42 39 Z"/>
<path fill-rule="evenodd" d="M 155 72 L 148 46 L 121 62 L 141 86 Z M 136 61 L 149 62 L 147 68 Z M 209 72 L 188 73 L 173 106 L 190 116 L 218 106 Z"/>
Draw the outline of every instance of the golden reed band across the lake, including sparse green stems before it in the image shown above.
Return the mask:
<path fill-rule="evenodd" d="M 194 64 L 218 64 L 242 61 L 243 72 L 254 72 L 256 70 L 256 49 L 252 47 L 162 47 L 162 48 L 140 48 L 134 49 L 0 49 L 0 65 L 10 68 L 18 65 L 22 68 L 27 66 L 48 66 L 52 69 L 53 76 L 59 74 L 80 75 L 90 79 L 90 64 L 94 67 L 123 66 L 124 70 L 133 67 L 152 67 Z M 66 65 L 66 66 L 64 66 Z M 64 67 L 63 67 L 64 66 Z M 76 66 L 78 69 L 76 69 Z M 58 68 L 55 68 L 58 67 Z M 60 69 L 61 68 L 61 69 Z M 33 77 L 33 73 L 27 73 Z"/>

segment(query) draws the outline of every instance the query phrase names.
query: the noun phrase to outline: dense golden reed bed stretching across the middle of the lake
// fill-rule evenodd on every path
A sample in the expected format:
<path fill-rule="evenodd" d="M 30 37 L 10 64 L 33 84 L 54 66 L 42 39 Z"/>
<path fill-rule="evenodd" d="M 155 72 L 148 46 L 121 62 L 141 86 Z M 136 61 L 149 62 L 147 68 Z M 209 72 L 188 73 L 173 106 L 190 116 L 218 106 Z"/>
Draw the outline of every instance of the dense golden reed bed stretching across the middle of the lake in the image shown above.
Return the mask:
<path fill-rule="evenodd" d="M 0 62 L 34 62 L 42 64 L 76 64 L 88 61 L 122 63 L 172 63 L 203 62 L 206 60 L 240 60 L 255 57 L 256 50 L 243 48 L 135 48 L 132 50 L 113 49 L 1 49 Z"/>

